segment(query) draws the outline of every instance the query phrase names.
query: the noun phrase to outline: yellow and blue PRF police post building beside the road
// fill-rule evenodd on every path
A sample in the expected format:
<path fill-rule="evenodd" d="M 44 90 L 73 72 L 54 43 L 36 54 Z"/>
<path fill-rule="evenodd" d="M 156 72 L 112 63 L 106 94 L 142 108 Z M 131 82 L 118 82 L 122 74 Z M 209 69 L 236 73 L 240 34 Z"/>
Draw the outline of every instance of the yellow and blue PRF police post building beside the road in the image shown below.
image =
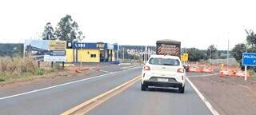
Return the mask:
<path fill-rule="evenodd" d="M 118 44 L 104 42 L 73 42 L 66 50 L 67 61 L 101 62 L 116 61 Z"/>

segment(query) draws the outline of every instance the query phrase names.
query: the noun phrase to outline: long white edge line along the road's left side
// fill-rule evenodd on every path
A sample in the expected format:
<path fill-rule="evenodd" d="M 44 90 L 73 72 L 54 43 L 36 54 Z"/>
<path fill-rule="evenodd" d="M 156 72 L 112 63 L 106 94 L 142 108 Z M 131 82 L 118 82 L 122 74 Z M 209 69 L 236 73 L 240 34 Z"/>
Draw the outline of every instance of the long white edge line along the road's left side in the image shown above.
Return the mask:
<path fill-rule="evenodd" d="M 36 92 L 40 92 L 40 91 L 43 91 L 43 90 L 46 90 L 46 89 L 53 89 L 53 88 L 60 87 L 60 86 L 63 86 L 63 85 L 70 85 L 70 84 L 74 84 L 74 83 L 77 83 L 77 82 L 86 81 L 86 80 L 94 79 L 94 78 L 97 78 L 97 77 L 103 77 L 103 76 L 110 75 L 110 74 L 114 74 L 114 73 L 106 73 L 106 74 L 102 74 L 102 75 L 95 76 L 95 77 L 88 77 L 88 78 L 78 80 L 78 81 L 70 81 L 70 82 L 67 82 L 67 83 L 64 83 L 64 84 L 46 87 L 46 88 L 43 88 L 43 89 L 34 89 L 34 90 L 26 92 L 26 93 L 18 93 L 18 94 L 7 96 L 7 97 L 0 97 L 0 101 L 4 100 L 4 99 L 11 98 L 11 97 L 18 97 L 18 96 L 26 95 L 26 94 L 29 94 L 29 93 L 36 93 Z"/>

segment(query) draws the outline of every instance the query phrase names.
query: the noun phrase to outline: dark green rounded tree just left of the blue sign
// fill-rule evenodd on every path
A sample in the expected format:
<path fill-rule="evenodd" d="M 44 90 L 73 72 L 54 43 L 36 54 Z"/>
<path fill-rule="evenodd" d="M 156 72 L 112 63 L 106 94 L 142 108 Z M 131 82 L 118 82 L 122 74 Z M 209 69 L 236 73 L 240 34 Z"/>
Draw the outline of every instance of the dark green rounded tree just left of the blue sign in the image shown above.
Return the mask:
<path fill-rule="evenodd" d="M 236 61 L 242 67 L 242 53 L 246 52 L 246 44 L 240 43 L 234 46 L 231 50 L 231 55 L 235 58 Z"/>

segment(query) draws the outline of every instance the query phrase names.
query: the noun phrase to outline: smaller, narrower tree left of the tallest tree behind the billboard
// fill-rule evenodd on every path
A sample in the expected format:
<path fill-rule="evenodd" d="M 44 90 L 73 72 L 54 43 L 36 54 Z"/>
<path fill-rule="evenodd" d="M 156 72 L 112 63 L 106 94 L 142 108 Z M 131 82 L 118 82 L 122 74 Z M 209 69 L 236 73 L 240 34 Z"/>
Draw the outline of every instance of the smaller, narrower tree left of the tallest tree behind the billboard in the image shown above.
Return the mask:
<path fill-rule="evenodd" d="M 42 39 L 43 40 L 54 40 L 54 28 L 51 26 L 50 22 L 46 23 L 45 29 L 42 32 Z"/>

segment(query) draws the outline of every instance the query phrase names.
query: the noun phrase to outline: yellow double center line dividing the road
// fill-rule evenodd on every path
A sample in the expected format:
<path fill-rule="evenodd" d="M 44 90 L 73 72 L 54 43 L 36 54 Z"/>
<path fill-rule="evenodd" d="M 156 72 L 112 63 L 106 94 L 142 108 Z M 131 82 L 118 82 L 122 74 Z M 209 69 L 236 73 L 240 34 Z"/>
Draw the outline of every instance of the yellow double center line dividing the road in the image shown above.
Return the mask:
<path fill-rule="evenodd" d="M 96 97 L 91 98 L 88 101 L 83 102 L 82 104 L 79 104 L 75 106 L 72 109 L 67 110 L 64 113 L 61 113 L 61 115 L 70 115 L 70 114 L 76 114 L 76 115 L 83 115 L 88 113 L 91 109 L 94 109 L 98 105 L 101 105 L 104 101 L 107 101 L 111 97 L 114 97 L 118 93 L 121 93 L 123 90 L 129 88 L 131 85 L 134 85 L 135 82 L 140 80 L 140 76 L 134 77 L 130 81 L 127 81 L 126 83 L 122 85 L 118 85 L 114 89 L 110 89 L 106 93 L 102 93 Z"/>

